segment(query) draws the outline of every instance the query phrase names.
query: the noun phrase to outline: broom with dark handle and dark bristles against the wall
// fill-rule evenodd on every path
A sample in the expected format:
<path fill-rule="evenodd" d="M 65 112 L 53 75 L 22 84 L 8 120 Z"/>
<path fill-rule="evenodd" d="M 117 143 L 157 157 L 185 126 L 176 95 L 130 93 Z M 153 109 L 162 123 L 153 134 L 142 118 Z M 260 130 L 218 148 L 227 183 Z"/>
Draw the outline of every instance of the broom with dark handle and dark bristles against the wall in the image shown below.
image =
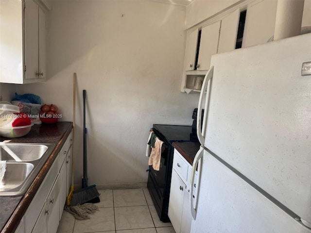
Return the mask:
<path fill-rule="evenodd" d="M 70 206 L 84 204 L 86 202 L 100 202 L 100 193 L 96 185 L 87 186 L 87 145 L 86 145 L 86 90 L 83 90 L 83 178 L 82 189 L 74 191 Z"/>

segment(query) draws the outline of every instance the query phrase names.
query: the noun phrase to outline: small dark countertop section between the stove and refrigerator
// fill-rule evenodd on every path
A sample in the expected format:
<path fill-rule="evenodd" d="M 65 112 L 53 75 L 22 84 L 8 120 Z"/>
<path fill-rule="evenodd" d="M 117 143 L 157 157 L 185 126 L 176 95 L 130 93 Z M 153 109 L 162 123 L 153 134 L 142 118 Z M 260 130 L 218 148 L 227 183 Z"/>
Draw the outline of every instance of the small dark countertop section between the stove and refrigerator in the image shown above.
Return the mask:
<path fill-rule="evenodd" d="M 173 142 L 173 147 L 190 163 L 193 164 L 193 159 L 196 152 L 200 149 L 199 142 Z"/>

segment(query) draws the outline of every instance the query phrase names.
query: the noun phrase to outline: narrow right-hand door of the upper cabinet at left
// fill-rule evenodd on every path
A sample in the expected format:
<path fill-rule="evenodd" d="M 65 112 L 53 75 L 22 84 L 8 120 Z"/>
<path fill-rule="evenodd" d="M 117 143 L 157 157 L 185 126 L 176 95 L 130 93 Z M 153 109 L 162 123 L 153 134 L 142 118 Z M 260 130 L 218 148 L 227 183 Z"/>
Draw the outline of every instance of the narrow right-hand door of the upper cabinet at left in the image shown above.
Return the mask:
<path fill-rule="evenodd" d="M 38 50 L 39 50 L 39 78 L 46 77 L 46 16 L 43 10 L 39 7 L 39 38 L 38 38 Z"/>

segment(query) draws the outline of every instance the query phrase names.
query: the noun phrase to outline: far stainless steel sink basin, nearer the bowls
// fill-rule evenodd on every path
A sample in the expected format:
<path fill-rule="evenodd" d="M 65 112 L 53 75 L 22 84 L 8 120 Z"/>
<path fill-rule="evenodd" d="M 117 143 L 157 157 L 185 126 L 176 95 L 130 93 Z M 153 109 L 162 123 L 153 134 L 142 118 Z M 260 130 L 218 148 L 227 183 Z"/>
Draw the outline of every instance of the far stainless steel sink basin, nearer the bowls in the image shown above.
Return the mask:
<path fill-rule="evenodd" d="M 40 159 L 48 146 L 39 144 L 0 144 L 0 160 L 29 162 Z"/>

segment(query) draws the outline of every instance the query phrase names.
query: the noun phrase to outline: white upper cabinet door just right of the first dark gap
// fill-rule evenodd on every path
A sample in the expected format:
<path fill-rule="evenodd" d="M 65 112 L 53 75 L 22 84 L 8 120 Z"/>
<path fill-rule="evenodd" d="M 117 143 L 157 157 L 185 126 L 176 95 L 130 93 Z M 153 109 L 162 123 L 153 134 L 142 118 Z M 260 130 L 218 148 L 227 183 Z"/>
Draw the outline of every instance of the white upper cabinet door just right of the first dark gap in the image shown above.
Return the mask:
<path fill-rule="evenodd" d="M 217 53 L 220 21 L 210 24 L 201 31 L 197 70 L 208 70 L 211 55 Z"/>

